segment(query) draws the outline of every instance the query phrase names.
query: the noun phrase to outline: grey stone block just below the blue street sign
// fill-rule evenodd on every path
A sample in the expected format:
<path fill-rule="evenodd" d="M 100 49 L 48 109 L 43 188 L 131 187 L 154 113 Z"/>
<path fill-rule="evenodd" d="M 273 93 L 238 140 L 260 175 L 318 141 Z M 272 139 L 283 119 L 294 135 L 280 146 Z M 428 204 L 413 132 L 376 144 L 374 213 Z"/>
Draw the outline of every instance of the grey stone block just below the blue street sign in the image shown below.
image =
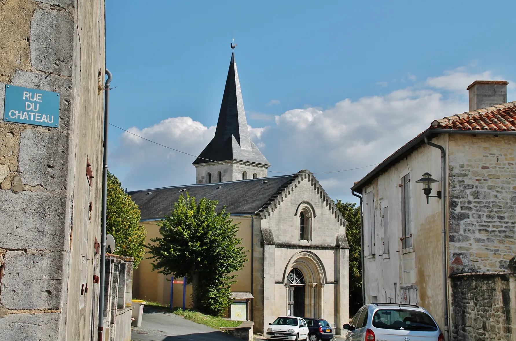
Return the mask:
<path fill-rule="evenodd" d="M 65 190 L 68 175 L 68 134 L 25 129 L 20 136 L 20 173 L 24 184 Z"/>

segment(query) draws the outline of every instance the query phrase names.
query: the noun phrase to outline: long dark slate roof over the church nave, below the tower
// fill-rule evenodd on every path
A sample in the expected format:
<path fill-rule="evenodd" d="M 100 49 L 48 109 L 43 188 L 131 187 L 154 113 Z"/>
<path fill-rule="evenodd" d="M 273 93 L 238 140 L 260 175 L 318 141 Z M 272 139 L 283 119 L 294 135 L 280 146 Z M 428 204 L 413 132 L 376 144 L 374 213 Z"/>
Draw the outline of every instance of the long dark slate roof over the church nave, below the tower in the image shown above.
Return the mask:
<path fill-rule="evenodd" d="M 271 198 L 291 184 L 298 175 L 299 173 L 216 184 L 154 188 L 130 191 L 128 194 L 140 208 L 142 220 L 161 219 L 169 215 L 174 202 L 185 192 L 197 200 L 218 200 L 217 210 L 226 205 L 226 212 L 231 214 L 254 214 L 270 203 Z"/>

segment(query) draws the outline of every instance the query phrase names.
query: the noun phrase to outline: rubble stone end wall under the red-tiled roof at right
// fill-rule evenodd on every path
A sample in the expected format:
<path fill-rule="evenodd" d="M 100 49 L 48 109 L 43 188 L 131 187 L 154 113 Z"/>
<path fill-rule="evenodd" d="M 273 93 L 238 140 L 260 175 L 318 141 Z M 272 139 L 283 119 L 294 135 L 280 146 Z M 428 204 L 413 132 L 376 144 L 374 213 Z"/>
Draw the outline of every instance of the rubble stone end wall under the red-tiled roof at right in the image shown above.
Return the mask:
<path fill-rule="evenodd" d="M 450 273 L 505 271 L 516 253 L 512 136 L 449 137 Z"/>

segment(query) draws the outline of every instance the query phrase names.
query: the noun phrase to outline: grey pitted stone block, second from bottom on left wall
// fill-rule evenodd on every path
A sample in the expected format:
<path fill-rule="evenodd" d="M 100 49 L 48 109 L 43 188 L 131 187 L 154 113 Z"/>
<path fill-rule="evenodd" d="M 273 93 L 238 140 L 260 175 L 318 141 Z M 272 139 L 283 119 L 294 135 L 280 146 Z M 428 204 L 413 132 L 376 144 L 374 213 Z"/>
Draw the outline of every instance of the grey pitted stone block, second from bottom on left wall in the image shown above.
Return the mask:
<path fill-rule="evenodd" d="M 0 299 L 8 309 L 58 309 L 62 306 L 63 253 L 7 251 Z"/>

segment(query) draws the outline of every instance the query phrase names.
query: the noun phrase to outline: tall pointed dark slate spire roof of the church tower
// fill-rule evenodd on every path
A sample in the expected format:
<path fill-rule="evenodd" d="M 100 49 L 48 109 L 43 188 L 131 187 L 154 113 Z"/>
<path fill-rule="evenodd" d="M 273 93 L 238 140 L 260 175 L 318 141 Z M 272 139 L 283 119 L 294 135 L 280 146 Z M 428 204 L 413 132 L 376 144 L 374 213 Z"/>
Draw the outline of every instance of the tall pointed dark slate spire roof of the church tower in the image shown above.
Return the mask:
<path fill-rule="evenodd" d="M 233 53 L 222 95 L 215 137 L 193 161 L 193 165 L 226 160 L 248 161 L 270 166 L 269 161 L 249 137 L 246 111 Z"/>

